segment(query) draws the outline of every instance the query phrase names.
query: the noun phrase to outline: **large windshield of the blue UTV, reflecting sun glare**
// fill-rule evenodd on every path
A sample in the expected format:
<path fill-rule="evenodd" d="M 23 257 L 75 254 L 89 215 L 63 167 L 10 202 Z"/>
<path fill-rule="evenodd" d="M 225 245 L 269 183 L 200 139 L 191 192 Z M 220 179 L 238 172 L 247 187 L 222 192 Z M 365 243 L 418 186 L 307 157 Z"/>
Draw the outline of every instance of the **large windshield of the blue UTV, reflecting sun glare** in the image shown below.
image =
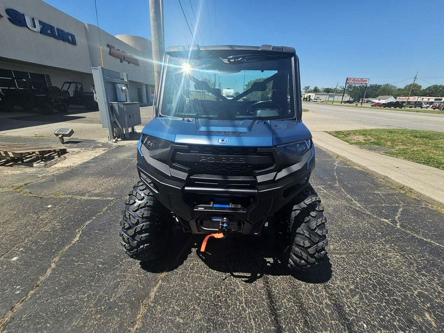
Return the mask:
<path fill-rule="evenodd" d="M 167 57 L 160 114 L 180 118 L 292 119 L 292 57 Z"/>

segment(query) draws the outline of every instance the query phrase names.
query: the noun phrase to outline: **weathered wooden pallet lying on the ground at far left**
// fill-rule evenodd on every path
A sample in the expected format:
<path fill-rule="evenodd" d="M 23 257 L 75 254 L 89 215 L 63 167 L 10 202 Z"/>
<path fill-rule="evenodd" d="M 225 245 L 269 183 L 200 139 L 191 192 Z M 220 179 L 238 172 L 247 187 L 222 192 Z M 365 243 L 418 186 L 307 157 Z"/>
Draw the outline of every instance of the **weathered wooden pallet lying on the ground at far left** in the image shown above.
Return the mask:
<path fill-rule="evenodd" d="M 44 157 L 51 153 L 56 153 L 57 156 L 60 157 L 61 154 L 66 153 L 66 148 L 0 143 L 0 160 L 19 159 L 20 161 L 24 162 L 25 158 L 33 158 L 38 156 L 40 161 L 43 161 Z"/>

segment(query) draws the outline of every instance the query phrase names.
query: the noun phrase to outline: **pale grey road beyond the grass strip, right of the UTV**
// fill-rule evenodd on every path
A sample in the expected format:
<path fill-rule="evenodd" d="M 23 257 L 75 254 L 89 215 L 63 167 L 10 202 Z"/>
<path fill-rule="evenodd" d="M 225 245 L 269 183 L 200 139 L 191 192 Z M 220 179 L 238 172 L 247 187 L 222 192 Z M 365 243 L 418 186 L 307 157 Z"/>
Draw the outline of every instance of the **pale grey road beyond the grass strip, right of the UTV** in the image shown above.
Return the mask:
<path fill-rule="evenodd" d="M 361 122 L 374 127 L 410 128 L 444 132 L 444 114 L 419 113 L 410 111 L 390 111 L 379 108 L 362 109 L 340 107 L 328 103 L 303 103 L 303 108 L 313 112 L 333 115 Z"/>

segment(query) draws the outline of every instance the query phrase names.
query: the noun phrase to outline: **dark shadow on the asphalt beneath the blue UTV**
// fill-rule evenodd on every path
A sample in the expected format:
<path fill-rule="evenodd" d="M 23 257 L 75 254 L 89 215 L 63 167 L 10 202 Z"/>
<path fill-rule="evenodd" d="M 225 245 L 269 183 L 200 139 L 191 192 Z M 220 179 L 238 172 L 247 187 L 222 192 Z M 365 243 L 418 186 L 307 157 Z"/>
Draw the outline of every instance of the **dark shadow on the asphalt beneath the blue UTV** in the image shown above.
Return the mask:
<path fill-rule="evenodd" d="M 293 276 L 305 283 L 325 283 L 332 277 L 332 265 L 326 258 L 318 267 L 293 272 L 278 259 L 274 237 L 230 234 L 223 239 L 211 238 L 205 252 L 200 252 L 204 235 L 190 235 L 181 228 L 173 231 L 171 245 L 155 261 L 141 261 L 142 269 L 151 273 L 169 272 L 181 266 L 193 251 L 210 269 L 229 273 L 245 283 L 254 283 L 264 275 Z M 226 278 L 225 278 L 226 279 Z"/>

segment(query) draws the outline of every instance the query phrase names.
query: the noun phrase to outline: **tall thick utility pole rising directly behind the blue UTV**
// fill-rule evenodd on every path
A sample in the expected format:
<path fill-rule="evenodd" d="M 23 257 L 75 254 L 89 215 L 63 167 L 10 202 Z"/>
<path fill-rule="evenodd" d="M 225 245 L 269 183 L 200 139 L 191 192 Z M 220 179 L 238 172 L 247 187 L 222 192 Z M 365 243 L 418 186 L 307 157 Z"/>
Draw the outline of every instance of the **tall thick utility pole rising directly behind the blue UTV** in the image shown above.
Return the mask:
<path fill-rule="evenodd" d="M 160 71 L 165 53 L 163 30 L 163 0 L 149 0 L 149 19 L 151 21 L 152 60 L 154 67 L 154 99 L 159 91 Z M 154 101 L 153 101 L 154 110 Z"/>

